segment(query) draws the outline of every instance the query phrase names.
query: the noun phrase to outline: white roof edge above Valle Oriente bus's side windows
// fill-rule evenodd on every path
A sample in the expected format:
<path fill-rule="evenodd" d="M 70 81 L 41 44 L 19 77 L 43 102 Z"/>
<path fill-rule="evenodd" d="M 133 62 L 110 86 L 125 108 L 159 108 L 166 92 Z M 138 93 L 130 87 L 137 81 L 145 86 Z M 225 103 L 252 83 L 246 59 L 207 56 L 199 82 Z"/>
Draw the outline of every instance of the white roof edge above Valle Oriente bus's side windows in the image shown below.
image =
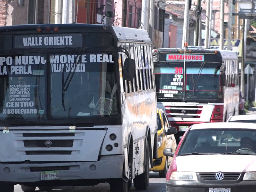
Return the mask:
<path fill-rule="evenodd" d="M 112 26 L 119 41 L 143 41 L 152 43 L 148 32 L 144 29 Z"/>

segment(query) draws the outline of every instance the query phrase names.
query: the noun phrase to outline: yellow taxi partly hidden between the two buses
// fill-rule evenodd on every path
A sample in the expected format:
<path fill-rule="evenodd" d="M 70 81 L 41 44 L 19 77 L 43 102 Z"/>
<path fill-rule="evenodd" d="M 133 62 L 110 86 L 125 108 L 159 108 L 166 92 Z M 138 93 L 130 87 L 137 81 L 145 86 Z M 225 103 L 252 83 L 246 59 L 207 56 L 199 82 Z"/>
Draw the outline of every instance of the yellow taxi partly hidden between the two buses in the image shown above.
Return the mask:
<path fill-rule="evenodd" d="M 172 152 L 175 153 L 177 143 L 174 134 L 176 133 L 177 129 L 170 125 L 164 110 L 157 108 L 158 158 L 153 160 L 154 167 L 150 171 L 159 172 L 159 177 L 166 177 L 172 157 L 164 156 L 163 152 L 165 148 L 172 148 Z"/>

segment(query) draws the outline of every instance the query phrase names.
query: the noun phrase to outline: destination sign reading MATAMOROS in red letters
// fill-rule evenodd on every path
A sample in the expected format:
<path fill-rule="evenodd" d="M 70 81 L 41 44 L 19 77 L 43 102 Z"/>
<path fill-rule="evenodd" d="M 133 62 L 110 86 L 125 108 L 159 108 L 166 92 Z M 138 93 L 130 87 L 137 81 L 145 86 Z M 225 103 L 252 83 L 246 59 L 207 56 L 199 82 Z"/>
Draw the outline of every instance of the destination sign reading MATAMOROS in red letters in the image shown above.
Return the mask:
<path fill-rule="evenodd" d="M 204 61 L 204 55 L 195 54 L 166 54 L 167 61 Z"/>

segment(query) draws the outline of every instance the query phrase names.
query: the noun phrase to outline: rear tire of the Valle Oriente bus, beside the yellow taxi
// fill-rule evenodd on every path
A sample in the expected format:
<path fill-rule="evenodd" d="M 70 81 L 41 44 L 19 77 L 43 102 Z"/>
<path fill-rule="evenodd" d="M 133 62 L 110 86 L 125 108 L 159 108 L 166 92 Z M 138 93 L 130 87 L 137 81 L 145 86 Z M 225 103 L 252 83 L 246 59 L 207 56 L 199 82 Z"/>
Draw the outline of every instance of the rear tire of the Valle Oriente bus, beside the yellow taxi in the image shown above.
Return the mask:
<path fill-rule="evenodd" d="M 136 190 L 147 190 L 149 186 L 149 147 L 148 147 L 148 142 L 146 145 L 146 158 L 145 158 L 145 171 L 144 173 L 135 176 L 133 179 L 133 185 Z"/>

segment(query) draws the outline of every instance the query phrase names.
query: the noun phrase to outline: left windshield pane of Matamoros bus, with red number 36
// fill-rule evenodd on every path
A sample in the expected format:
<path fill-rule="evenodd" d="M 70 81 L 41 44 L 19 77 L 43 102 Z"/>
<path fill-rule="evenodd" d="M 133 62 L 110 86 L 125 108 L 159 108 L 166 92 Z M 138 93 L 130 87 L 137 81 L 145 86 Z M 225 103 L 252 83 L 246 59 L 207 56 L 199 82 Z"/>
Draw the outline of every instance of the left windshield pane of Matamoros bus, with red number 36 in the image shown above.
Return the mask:
<path fill-rule="evenodd" d="M 183 98 L 184 63 L 154 64 L 157 99 Z"/>

